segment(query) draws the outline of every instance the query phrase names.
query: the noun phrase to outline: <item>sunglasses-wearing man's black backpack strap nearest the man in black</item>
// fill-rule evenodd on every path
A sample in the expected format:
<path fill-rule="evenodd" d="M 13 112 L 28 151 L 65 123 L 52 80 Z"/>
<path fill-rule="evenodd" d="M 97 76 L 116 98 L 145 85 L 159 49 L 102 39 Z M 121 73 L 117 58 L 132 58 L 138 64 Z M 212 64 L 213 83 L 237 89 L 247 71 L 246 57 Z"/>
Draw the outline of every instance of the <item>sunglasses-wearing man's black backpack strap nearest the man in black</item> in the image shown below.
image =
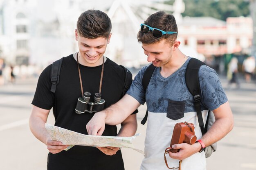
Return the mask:
<path fill-rule="evenodd" d="M 151 79 L 151 77 L 152 77 L 152 74 L 153 74 L 153 72 L 155 71 L 155 66 L 153 65 L 153 64 L 150 64 L 149 66 L 148 66 L 148 68 L 146 68 L 146 71 L 144 72 L 144 74 L 143 74 L 143 78 L 142 78 L 142 86 L 143 86 L 143 88 L 144 88 L 144 92 L 146 93 L 146 89 L 148 88 L 148 84 L 149 84 L 149 82 L 150 82 L 150 79 Z M 148 119 L 148 109 L 147 109 L 147 111 L 146 111 L 146 115 L 145 115 L 145 117 L 141 120 L 141 124 L 145 124 L 146 123 L 146 121 L 147 121 L 147 119 Z"/>

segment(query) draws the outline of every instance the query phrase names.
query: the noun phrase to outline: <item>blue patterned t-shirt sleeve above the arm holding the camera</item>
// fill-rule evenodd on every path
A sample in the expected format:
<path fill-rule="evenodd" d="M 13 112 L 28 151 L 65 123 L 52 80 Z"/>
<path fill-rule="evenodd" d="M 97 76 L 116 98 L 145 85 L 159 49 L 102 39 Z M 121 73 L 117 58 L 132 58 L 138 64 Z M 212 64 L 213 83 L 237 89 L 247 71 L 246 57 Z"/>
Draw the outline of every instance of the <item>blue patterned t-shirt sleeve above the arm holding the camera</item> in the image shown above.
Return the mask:
<path fill-rule="evenodd" d="M 215 70 L 202 65 L 198 74 L 205 107 L 212 111 L 228 101 Z"/>

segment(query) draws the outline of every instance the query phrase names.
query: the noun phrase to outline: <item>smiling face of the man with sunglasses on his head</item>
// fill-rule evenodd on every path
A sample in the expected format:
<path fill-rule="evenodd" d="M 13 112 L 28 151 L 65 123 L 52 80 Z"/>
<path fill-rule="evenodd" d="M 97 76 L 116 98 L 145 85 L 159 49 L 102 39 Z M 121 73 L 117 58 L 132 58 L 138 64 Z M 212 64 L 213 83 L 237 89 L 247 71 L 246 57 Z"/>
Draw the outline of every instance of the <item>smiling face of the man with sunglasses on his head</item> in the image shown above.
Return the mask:
<path fill-rule="evenodd" d="M 154 44 L 142 44 L 144 54 L 148 56 L 148 62 L 152 62 L 155 67 L 162 67 L 171 63 L 175 43 L 170 46 L 165 39 Z"/>

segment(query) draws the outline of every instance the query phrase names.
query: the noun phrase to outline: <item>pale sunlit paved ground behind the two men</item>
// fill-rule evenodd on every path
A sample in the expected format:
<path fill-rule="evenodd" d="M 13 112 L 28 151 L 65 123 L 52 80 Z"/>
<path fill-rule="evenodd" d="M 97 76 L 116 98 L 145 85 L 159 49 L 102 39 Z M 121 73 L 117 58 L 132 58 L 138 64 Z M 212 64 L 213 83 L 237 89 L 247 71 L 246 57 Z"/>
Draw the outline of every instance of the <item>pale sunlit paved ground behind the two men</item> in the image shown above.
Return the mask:
<path fill-rule="evenodd" d="M 218 150 L 207 158 L 207 170 L 256 170 L 256 84 L 241 87 L 222 85 L 234 113 L 235 127 L 218 142 Z M 19 79 L 14 85 L 0 86 L 0 170 L 46 170 L 47 149 L 29 131 L 28 118 L 36 79 Z M 139 108 L 138 130 L 141 136 L 135 146 L 144 149 L 146 125 L 140 121 L 146 107 Z M 48 123 L 54 124 L 52 116 Z M 123 148 L 126 170 L 139 169 L 143 156 L 135 150 Z"/>

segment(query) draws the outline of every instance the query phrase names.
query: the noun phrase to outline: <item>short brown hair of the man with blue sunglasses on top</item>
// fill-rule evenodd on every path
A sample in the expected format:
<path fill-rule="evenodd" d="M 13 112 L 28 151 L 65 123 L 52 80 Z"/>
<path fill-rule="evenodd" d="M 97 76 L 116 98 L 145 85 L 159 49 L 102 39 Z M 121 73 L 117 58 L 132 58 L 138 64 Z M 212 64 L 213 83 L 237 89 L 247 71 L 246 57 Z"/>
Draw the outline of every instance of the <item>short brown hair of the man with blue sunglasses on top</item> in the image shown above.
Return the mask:
<path fill-rule="evenodd" d="M 178 33 L 175 17 L 164 11 L 158 11 L 150 15 L 144 24 L 153 28 L 158 28 L 162 31 L 173 31 Z M 173 45 L 174 41 L 177 39 L 177 34 L 164 34 L 162 37 L 157 38 L 154 37 L 152 33 L 144 34 L 139 30 L 137 39 L 142 44 L 154 44 L 161 41 L 162 39 L 166 39 L 168 43 Z"/>

